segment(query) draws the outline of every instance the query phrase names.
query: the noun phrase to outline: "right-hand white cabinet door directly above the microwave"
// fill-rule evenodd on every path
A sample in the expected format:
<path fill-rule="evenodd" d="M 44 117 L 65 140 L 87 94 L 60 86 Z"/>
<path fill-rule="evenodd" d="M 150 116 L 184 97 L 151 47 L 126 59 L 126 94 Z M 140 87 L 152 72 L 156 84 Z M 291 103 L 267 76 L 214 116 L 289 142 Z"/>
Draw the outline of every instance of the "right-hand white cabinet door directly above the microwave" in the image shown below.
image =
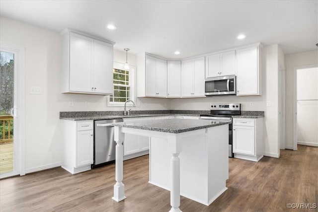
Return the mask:
<path fill-rule="evenodd" d="M 235 74 L 235 51 L 221 53 L 220 76 Z"/>

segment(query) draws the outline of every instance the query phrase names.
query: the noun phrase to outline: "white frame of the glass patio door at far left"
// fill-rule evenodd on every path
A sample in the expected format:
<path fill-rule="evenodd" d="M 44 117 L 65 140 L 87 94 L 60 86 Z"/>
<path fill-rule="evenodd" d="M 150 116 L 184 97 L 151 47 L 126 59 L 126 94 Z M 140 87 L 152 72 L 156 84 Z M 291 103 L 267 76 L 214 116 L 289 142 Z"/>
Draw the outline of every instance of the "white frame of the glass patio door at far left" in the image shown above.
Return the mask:
<path fill-rule="evenodd" d="M 25 175 L 25 48 L 1 42 L 1 51 L 14 54 L 14 171 L 3 173 L 0 178 Z M 16 60 L 15 60 L 16 59 Z"/>

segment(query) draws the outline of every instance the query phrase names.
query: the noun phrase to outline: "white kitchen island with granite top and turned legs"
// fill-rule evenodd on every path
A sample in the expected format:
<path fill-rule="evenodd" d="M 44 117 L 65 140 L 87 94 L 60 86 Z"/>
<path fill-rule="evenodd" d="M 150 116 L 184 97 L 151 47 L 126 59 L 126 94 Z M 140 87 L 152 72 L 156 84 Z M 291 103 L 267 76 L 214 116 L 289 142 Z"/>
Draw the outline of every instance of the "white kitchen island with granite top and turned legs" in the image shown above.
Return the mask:
<path fill-rule="evenodd" d="M 180 212 L 180 194 L 210 205 L 227 190 L 230 123 L 183 119 L 114 123 L 116 184 L 112 199 L 126 199 L 122 143 L 124 134 L 135 134 L 151 137 L 149 183 L 170 191 L 170 212 Z"/>

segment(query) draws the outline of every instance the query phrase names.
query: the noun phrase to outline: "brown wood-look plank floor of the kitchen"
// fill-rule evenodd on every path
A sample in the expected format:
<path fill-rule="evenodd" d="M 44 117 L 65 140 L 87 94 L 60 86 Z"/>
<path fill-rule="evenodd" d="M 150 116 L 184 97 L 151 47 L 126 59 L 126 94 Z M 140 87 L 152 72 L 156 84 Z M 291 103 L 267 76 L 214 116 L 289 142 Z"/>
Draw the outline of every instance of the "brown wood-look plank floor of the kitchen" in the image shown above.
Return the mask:
<path fill-rule="evenodd" d="M 230 160 L 229 188 L 209 207 L 181 197 L 183 212 L 317 212 L 318 148 L 281 150 L 279 159 Z M 72 175 L 61 167 L 0 180 L 1 212 L 168 212 L 168 191 L 148 183 L 148 155 L 124 161 L 127 199 L 113 196 L 115 165 Z M 198 182 L 200 183 L 200 182 Z M 304 206 L 305 207 L 305 206 Z M 307 205 L 308 207 L 308 205 Z"/>

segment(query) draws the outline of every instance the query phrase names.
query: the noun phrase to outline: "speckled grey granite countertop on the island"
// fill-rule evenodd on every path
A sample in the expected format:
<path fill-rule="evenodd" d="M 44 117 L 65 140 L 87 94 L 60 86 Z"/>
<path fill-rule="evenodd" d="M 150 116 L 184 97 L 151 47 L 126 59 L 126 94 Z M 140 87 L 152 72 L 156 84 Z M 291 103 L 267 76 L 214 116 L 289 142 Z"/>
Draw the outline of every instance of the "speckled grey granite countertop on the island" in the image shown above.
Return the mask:
<path fill-rule="evenodd" d="M 151 121 L 138 121 L 134 123 L 119 122 L 112 125 L 133 129 L 159 131 L 164 133 L 184 133 L 231 123 L 232 122 L 229 121 L 211 121 L 202 119 L 159 119 Z"/>

